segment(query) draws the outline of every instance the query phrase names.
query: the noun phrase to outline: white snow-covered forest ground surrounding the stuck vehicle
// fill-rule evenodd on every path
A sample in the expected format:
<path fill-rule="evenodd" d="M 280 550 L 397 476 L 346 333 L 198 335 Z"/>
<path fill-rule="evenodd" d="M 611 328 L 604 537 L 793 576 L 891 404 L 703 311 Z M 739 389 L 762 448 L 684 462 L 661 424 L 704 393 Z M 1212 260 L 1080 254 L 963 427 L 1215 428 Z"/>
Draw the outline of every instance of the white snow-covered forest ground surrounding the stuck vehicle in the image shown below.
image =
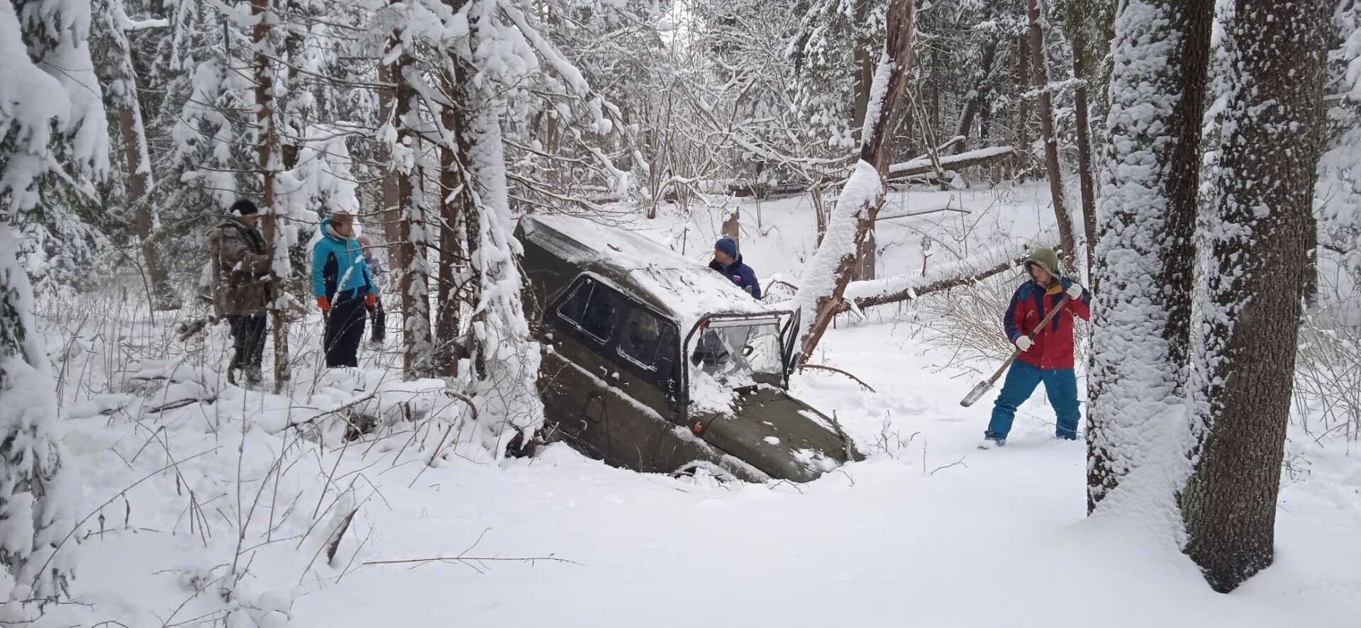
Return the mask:
<path fill-rule="evenodd" d="M 894 194 L 885 215 L 946 203 L 972 213 L 881 224 L 881 275 L 920 272 L 928 237 L 927 264 L 945 264 L 1052 222 L 1047 194 L 1029 186 Z M 746 261 L 762 280 L 796 283 L 814 249 L 807 198 L 762 203 L 759 226 L 755 203 L 742 209 Z M 715 211 L 636 227 L 701 258 L 720 223 Z M 69 356 L 59 370 L 68 462 L 86 495 L 76 517 L 91 517 L 75 536 L 83 605 L 41 623 L 1361 625 L 1361 462 L 1345 443 L 1293 434 L 1277 563 L 1215 594 L 1175 549 L 1085 518 L 1085 449 L 1051 438 L 1043 396 L 1021 409 L 1007 447 L 977 450 L 991 396 L 968 409 L 958 400 L 979 375 L 921 333 L 912 306 L 881 310 L 847 315 L 813 360 L 875 391 L 830 372 L 796 377 L 795 396 L 834 412 L 871 454 L 803 485 L 638 474 L 561 444 L 495 462 L 436 420 L 342 444 L 331 411 L 392 377 L 377 364 L 392 363 L 391 345 L 369 363 L 370 382 L 314 379 L 314 356 L 302 355 L 302 383 L 279 397 L 223 387 L 222 329 L 186 351 L 142 313 L 127 317 L 139 328 L 97 318 L 61 337 L 76 314 L 49 310 L 52 351 Z M 293 345 L 313 347 L 314 326 L 297 328 Z M 137 362 L 157 352 L 170 364 Z M 176 383 L 114 391 L 137 372 Z M 361 401 L 456 412 L 438 390 L 387 386 Z M 286 427 L 299 421 L 328 432 L 299 438 Z M 355 507 L 328 561 L 324 540 Z M 455 560 L 422 561 L 441 557 Z"/>

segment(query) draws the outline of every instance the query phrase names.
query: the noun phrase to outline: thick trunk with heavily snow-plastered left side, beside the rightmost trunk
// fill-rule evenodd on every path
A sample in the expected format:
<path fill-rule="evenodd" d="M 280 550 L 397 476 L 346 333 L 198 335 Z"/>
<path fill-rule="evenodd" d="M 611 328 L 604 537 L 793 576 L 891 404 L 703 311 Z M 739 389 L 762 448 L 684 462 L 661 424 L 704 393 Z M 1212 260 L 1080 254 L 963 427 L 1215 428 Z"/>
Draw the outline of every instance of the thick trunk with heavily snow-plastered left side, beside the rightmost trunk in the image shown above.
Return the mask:
<path fill-rule="evenodd" d="M 1131 0 L 1112 42 L 1105 239 L 1096 249 L 1102 292 L 1089 375 L 1089 512 L 1134 468 L 1157 464 L 1149 459 L 1150 431 L 1185 405 L 1213 18 L 1214 0 Z M 1154 56 L 1166 63 L 1143 63 Z M 1176 517 L 1180 480 L 1169 483 L 1160 498 Z"/>

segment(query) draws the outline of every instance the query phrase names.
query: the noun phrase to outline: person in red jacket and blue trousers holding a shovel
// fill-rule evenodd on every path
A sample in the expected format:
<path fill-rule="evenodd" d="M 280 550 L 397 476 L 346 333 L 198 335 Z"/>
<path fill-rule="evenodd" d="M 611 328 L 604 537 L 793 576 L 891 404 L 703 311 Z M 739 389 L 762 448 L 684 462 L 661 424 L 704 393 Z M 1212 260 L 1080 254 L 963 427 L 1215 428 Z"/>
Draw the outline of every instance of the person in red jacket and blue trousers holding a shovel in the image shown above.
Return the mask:
<path fill-rule="evenodd" d="M 1059 273 L 1059 256 L 1041 246 L 1025 262 L 1030 280 L 1017 288 L 1002 324 L 1007 337 L 1021 349 L 1021 355 L 1007 370 L 1007 379 L 992 408 L 992 420 L 983 434 L 981 449 L 1007 444 L 1007 432 L 1015 420 L 1017 408 L 1030 398 L 1034 387 L 1044 383 L 1044 393 L 1059 421 L 1055 436 L 1068 440 L 1078 438 L 1078 378 L 1072 371 L 1074 317 L 1092 318 L 1092 295 L 1077 281 Z M 1067 296 L 1067 303 L 1063 298 Z M 1044 329 L 1036 326 L 1051 309 L 1063 310 L 1049 319 Z M 1030 333 L 1036 332 L 1034 340 Z"/>

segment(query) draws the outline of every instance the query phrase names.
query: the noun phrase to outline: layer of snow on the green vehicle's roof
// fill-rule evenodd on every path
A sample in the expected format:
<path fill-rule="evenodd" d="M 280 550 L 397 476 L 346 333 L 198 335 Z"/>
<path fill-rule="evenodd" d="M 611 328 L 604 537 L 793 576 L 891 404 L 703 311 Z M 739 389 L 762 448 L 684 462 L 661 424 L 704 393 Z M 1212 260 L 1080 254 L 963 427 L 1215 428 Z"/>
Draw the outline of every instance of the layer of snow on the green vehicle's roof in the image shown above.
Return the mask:
<path fill-rule="evenodd" d="M 562 215 L 524 216 L 520 226 L 527 239 L 563 261 L 622 283 L 619 288 L 641 292 L 651 306 L 680 317 L 682 333 L 708 314 L 774 311 L 704 264 L 638 232 Z"/>

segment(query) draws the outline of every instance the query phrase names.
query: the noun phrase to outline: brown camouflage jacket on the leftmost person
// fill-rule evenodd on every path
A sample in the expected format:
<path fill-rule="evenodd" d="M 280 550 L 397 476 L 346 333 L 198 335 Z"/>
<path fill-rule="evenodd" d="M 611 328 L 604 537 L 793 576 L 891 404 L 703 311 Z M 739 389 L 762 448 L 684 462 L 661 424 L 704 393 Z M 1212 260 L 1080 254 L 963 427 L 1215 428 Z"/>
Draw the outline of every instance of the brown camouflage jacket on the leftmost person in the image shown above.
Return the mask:
<path fill-rule="evenodd" d="M 269 257 L 255 227 L 226 219 L 208 232 L 218 315 L 264 314 L 269 302 Z"/>

